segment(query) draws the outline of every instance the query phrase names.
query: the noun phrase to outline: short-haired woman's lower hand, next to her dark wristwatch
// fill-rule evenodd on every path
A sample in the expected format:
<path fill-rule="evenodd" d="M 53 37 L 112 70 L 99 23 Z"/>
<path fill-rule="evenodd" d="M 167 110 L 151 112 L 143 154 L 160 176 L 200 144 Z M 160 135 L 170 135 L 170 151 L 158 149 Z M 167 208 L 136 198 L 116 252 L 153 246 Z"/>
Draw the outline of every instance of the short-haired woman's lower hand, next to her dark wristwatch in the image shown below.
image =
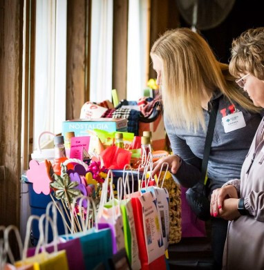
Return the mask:
<path fill-rule="evenodd" d="M 219 209 L 219 217 L 224 220 L 236 220 L 240 216 L 241 214 L 238 212 L 238 199 L 225 199 L 223 207 Z"/>

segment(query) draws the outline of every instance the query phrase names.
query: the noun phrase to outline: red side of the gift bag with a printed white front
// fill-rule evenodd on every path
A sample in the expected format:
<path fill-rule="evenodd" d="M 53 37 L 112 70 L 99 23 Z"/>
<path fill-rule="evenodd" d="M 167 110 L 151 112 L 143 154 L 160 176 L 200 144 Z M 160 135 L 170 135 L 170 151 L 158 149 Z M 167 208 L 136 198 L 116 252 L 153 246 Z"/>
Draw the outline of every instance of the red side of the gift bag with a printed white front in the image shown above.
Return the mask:
<path fill-rule="evenodd" d="M 138 197 L 131 198 L 131 204 L 133 208 L 133 215 L 135 221 L 135 233 L 138 240 L 138 253 L 140 255 L 141 269 L 143 270 L 165 270 L 166 262 L 164 255 L 155 259 L 151 264 L 148 264 L 148 254 L 146 241 L 144 236 L 144 224 L 142 218 L 142 205 Z"/>

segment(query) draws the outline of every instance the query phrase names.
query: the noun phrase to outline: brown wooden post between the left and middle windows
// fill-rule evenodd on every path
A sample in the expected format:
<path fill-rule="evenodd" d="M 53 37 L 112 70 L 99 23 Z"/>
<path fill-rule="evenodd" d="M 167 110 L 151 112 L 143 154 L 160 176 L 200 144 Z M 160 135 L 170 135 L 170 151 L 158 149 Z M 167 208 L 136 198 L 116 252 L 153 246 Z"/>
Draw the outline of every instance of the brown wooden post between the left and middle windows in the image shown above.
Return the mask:
<path fill-rule="evenodd" d="M 67 2 L 66 119 L 79 118 L 82 105 L 88 101 L 86 23 L 89 2 Z"/>

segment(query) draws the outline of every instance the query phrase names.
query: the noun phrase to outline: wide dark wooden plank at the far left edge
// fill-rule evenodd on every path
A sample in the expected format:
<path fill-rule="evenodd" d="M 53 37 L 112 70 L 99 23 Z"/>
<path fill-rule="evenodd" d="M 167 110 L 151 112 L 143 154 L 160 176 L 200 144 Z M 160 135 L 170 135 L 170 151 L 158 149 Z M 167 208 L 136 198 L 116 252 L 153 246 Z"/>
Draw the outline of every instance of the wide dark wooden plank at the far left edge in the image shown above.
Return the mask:
<path fill-rule="evenodd" d="M 23 1 L 0 0 L 0 224 L 20 220 Z"/>

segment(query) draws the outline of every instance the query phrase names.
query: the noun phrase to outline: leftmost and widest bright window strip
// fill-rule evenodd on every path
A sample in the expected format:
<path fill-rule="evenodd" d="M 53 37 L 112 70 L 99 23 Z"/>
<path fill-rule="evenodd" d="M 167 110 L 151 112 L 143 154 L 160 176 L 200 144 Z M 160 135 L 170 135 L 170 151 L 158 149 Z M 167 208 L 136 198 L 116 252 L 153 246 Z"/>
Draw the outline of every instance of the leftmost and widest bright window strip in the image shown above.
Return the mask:
<path fill-rule="evenodd" d="M 36 1 L 33 148 L 43 131 L 61 133 L 66 118 L 66 15 L 66 0 Z"/>

